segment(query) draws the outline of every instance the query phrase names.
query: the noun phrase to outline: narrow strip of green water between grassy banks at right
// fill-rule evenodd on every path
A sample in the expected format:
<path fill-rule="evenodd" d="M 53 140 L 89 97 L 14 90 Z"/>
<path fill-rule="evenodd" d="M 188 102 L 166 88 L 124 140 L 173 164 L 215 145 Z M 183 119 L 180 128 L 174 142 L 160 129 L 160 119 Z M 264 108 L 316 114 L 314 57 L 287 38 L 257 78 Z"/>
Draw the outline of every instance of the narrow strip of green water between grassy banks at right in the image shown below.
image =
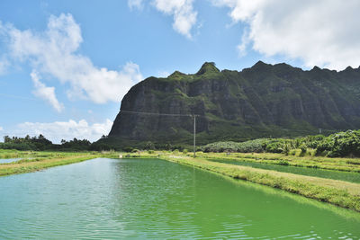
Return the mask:
<path fill-rule="evenodd" d="M 284 173 L 295 173 L 295 174 L 302 174 L 302 175 L 307 175 L 307 176 L 322 177 L 322 178 L 342 180 L 342 181 L 347 181 L 347 182 L 360 183 L 360 173 L 332 171 L 332 170 L 290 166 L 290 165 L 261 164 L 261 163 L 243 162 L 243 161 L 228 160 L 228 159 L 211 159 L 211 158 L 209 158 L 208 160 L 212 161 L 212 162 L 218 162 L 218 163 L 224 163 L 224 164 L 245 165 L 245 166 L 251 166 L 251 167 L 262 168 L 262 169 L 267 169 L 267 170 L 275 170 L 275 171 L 284 172 Z"/>

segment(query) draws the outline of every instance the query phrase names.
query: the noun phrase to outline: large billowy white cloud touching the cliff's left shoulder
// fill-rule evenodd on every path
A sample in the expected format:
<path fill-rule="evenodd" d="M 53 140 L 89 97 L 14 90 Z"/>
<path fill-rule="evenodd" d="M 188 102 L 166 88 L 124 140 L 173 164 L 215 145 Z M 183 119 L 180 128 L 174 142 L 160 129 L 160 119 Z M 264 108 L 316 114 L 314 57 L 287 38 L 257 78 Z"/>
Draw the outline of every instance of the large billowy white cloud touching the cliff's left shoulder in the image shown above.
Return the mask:
<path fill-rule="evenodd" d="M 3 26 L 14 59 L 30 62 L 41 79 L 55 77 L 69 84 L 67 95 L 96 103 L 120 102 L 133 84 L 143 77 L 139 66 L 127 63 L 120 70 L 95 67 L 90 58 L 76 51 L 83 41 L 80 26 L 71 14 L 50 16 L 46 31 L 21 31 Z"/>

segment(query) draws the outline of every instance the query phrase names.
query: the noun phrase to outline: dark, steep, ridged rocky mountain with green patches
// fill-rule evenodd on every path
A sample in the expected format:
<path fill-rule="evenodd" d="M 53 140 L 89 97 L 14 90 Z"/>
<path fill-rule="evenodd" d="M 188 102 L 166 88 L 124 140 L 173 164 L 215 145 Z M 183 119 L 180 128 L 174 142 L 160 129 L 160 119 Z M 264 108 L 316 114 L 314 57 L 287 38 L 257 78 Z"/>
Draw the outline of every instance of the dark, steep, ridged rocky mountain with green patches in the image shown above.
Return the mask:
<path fill-rule="evenodd" d="M 109 134 L 120 142 L 190 143 L 192 117 L 128 111 L 200 115 L 201 144 L 359 129 L 360 67 L 303 71 L 260 61 L 238 72 L 205 63 L 194 75 L 149 77 L 122 99 Z"/>

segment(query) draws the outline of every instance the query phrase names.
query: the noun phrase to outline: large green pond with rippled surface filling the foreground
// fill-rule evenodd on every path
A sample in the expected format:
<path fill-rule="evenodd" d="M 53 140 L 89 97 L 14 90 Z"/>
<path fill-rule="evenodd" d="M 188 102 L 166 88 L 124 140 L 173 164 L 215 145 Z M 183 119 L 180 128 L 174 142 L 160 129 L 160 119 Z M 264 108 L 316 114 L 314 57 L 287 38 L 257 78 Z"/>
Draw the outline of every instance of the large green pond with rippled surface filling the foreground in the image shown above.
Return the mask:
<path fill-rule="evenodd" d="M 0 178 L 0 239 L 359 239 L 360 213 L 157 159 Z"/>

